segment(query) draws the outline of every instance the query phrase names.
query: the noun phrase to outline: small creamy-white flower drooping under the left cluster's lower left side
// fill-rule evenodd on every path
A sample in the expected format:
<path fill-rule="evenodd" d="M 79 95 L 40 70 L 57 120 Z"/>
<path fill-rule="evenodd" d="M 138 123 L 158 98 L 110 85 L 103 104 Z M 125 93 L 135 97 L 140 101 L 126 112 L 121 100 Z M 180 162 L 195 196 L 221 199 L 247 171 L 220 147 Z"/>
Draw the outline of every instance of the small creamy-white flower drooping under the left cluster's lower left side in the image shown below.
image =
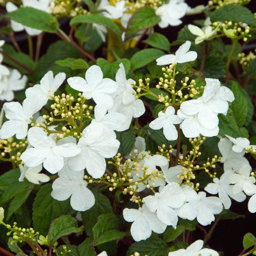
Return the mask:
<path fill-rule="evenodd" d="M 40 173 L 42 168 L 43 168 L 42 164 L 39 164 L 38 166 L 35 166 L 35 167 L 28 167 L 25 173 L 26 179 L 29 182 L 34 184 L 39 184 L 39 181 L 48 182 L 50 178 L 46 174 Z M 21 165 L 19 165 L 19 169 L 20 169 L 20 173 L 22 173 L 23 167 Z"/>

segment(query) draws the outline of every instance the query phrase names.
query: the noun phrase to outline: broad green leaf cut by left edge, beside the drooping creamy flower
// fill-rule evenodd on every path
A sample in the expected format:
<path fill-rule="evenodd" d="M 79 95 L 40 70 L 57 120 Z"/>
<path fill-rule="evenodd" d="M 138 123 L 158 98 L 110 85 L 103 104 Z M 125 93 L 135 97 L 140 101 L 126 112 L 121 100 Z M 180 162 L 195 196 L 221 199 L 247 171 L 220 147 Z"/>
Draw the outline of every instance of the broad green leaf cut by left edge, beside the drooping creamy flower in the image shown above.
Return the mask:
<path fill-rule="evenodd" d="M 20 193 L 20 191 L 23 191 L 30 186 L 26 179 L 24 182 L 19 182 L 19 176 L 19 168 L 10 170 L 0 176 L 0 190 L 3 191 L 3 194 L 0 197 L 0 204 L 7 202 Z"/>

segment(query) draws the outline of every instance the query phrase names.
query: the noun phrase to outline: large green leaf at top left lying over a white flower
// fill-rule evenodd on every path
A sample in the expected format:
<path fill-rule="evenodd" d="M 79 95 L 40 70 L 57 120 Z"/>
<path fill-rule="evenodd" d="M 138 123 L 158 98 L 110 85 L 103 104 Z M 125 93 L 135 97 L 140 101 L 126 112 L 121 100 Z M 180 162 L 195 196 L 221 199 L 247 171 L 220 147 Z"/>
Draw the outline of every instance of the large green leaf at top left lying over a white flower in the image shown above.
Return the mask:
<path fill-rule="evenodd" d="M 49 33 L 56 33 L 59 28 L 59 23 L 54 16 L 32 7 L 18 8 L 14 12 L 6 13 L 5 16 L 24 26 Z"/>

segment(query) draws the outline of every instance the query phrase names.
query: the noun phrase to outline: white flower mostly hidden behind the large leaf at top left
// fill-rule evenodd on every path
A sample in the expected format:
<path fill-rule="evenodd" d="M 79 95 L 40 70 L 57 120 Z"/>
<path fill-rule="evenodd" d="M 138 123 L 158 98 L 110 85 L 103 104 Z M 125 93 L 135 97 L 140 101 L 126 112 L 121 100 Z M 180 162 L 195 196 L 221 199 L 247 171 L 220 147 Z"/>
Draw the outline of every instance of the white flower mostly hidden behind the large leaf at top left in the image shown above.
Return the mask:
<path fill-rule="evenodd" d="M 22 4 L 24 7 L 33 7 L 35 9 L 50 13 L 49 2 L 50 0 L 23 0 Z M 14 5 L 12 2 L 6 3 L 7 12 L 13 12 L 17 9 L 18 7 Z M 22 31 L 25 29 L 30 36 L 39 35 L 42 32 L 41 30 L 24 26 L 21 23 L 18 23 L 14 20 L 11 20 L 11 27 L 14 32 Z"/>

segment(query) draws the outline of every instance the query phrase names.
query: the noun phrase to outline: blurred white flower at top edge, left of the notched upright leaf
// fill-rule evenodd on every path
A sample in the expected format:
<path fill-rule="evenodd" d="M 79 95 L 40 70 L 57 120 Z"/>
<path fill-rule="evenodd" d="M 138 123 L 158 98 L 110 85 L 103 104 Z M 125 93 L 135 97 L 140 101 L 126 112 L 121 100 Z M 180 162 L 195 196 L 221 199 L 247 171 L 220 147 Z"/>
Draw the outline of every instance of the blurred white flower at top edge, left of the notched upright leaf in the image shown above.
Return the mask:
<path fill-rule="evenodd" d="M 125 0 L 116 2 L 115 5 L 110 5 L 108 0 L 102 0 L 98 7 L 98 10 L 106 10 L 102 12 L 102 15 L 110 19 L 119 19 L 122 17 L 124 11 L 126 10 Z"/>

